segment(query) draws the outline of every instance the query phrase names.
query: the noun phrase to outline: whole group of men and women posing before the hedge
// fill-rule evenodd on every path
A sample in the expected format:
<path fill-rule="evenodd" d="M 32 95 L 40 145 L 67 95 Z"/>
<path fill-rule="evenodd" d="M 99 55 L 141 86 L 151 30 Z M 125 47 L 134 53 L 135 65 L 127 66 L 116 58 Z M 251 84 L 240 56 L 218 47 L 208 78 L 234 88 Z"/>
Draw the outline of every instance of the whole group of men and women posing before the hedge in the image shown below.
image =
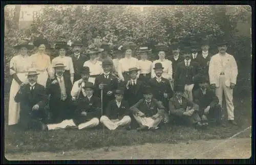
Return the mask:
<path fill-rule="evenodd" d="M 199 51 L 201 44 L 201 51 Z M 38 52 L 29 56 L 28 50 Z M 238 75 L 237 63 L 226 53 L 227 42 L 217 44 L 219 53 L 208 52 L 209 42 L 192 42 L 182 51 L 171 46 L 173 56 L 166 59 L 169 47 L 155 45 L 158 60 L 147 60 L 147 46 L 138 50 L 141 59 L 132 57 L 133 42 L 124 42 L 110 56 L 110 45 L 91 45 L 85 54 L 83 44 L 56 42 L 58 56 L 46 55 L 49 43 L 38 38 L 14 46 L 19 55 L 10 62 L 13 77 L 9 101 L 9 125 L 23 129 L 88 129 L 102 124 L 117 128 L 156 130 L 169 123 L 206 128 L 209 119 L 223 123 L 222 96 L 226 100 L 229 123 L 233 115 L 232 89 Z M 182 53 L 182 54 L 181 54 Z M 124 57 L 123 57 L 124 55 Z"/>

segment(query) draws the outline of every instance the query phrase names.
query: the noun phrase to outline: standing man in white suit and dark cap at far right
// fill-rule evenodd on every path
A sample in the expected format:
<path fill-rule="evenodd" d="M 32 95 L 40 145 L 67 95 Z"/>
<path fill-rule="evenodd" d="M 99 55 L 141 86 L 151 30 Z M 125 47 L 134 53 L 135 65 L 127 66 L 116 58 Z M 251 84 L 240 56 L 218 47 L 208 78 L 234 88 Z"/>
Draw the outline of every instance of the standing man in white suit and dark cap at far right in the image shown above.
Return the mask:
<path fill-rule="evenodd" d="M 228 53 L 227 43 L 218 43 L 219 53 L 212 56 L 209 63 L 209 80 L 210 86 L 215 89 L 219 104 L 222 106 L 223 91 L 226 100 L 228 121 L 233 125 L 234 106 L 233 106 L 233 88 L 237 82 L 238 67 L 234 57 Z"/>

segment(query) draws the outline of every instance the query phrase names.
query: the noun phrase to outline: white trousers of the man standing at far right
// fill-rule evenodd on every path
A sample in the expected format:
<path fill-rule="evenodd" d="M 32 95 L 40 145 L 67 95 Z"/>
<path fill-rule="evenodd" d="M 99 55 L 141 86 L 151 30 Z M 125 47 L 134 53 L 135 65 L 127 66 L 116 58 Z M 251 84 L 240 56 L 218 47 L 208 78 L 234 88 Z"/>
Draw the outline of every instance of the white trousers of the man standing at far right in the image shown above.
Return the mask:
<path fill-rule="evenodd" d="M 225 85 L 225 75 L 220 75 L 220 86 L 216 87 L 215 93 L 222 107 L 223 91 L 226 100 L 228 120 L 234 120 L 233 89 Z"/>

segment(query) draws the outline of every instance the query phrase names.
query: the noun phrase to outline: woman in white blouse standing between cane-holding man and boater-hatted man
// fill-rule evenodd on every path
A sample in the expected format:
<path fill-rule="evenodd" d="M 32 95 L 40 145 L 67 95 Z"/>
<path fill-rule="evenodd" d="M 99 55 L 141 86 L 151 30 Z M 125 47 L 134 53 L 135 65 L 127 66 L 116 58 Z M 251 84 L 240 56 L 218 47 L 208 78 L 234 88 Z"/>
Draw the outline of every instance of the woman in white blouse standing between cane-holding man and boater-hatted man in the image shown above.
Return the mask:
<path fill-rule="evenodd" d="M 129 79 L 129 69 L 138 66 L 138 59 L 132 57 L 135 49 L 135 44 L 131 41 L 124 42 L 122 50 L 124 51 L 124 58 L 119 60 L 118 64 L 118 77 L 121 82 Z M 140 72 L 138 71 L 137 78 L 139 78 Z"/>

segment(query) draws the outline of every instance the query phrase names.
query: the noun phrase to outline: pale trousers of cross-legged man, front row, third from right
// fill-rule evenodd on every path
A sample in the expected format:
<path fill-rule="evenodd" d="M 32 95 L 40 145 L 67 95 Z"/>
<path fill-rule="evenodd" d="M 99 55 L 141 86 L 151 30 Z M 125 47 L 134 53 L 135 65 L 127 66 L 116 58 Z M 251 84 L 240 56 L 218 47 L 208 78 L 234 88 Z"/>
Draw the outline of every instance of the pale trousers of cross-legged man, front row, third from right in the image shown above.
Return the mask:
<path fill-rule="evenodd" d="M 140 117 L 137 115 L 134 115 L 134 119 L 137 121 L 137 123 L 142 126 L 147 126 L 147 127 L 157 127 L 161 121 L 162 118 L 158 117 L 156 120 L 152 119 L 151 117 Z"/>

